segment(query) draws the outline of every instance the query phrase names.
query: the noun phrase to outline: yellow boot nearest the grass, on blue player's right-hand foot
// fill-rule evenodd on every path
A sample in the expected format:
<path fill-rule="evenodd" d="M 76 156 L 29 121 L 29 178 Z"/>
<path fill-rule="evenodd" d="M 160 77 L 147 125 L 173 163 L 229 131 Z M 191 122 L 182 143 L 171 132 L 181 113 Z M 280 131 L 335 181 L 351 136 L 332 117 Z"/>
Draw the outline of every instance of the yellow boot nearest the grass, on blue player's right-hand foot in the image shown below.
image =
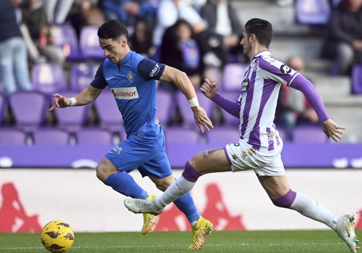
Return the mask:
<path fill-rule="evenodd" d="M 212 223 L 200 216 L 196 224 L 192 227 L 192 243 L 189 249 L 201 249 L 205 243 L 206 236 L 214 231 Z"/>

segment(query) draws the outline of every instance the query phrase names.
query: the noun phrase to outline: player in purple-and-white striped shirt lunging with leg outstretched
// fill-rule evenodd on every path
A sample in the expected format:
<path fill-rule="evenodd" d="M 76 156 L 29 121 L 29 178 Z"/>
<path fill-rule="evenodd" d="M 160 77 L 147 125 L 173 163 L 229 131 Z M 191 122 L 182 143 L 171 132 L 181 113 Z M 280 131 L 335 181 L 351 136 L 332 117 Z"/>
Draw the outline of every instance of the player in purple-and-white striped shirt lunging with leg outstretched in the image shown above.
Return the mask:
<path fill-rule="evenodd" d="M 351 252 L 357 252 L 359 247 L 352 216 L 337 216 L 310 196 L 294 192 L 289 187 L 280 155 L 283 142 L 273 124 L 281 83 L 302 91 L 316 111 L 328 138 L 338 142 L 341 130 L 345 128 L 329 119 L 310 81 L 271 56 L 268 48 L 273 30 L 268 21 L 259 18 L 249 20 L 243 36 L 240 44 L 251 64 L 245 71 L 239 99 L 234 102 L 222 97 L 217 93 L 216 83 L 208 79 L 201 87 L 206 97 L 240 119 L 239 141 L 195 155 L 186 162 L 182 175 L 160 197 L 146 201 L 126 199 L 126 207 L 134 213 L 160 214 L 166 205 L 189 192 L 201 175 L 254 170 L 275 206 L 298 211 L 326 224 L 337 232 Z"/>

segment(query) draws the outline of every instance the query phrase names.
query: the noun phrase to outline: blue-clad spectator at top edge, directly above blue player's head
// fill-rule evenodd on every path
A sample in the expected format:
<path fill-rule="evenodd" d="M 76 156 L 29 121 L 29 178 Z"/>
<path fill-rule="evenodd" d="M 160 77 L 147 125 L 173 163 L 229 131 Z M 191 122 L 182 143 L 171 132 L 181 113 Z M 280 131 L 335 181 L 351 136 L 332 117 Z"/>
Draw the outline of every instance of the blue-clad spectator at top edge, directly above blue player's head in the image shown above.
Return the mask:
<path fill-rule="evenodd" d="M 157 0 L 102 0 L 106 18 L 118 19 L 126 26 L 133 25 L 136 17 L 146 17 L 153 22 L 158 8 Z"/>

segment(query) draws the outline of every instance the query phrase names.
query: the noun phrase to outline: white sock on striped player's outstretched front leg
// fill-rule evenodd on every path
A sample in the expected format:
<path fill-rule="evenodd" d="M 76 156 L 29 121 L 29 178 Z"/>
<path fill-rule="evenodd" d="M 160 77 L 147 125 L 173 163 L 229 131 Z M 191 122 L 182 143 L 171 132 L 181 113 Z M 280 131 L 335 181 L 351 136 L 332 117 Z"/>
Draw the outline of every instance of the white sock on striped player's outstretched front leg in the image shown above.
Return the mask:
<path fill-rule="evenodd" d="M 155 204 L 158 207 L 165 207 L 169 203 L 177 200 L 179 197 L 189 192 L 195 183 L 186 180 L 182 175 L 165 190 L 158 198 L 155 198 Z"/>

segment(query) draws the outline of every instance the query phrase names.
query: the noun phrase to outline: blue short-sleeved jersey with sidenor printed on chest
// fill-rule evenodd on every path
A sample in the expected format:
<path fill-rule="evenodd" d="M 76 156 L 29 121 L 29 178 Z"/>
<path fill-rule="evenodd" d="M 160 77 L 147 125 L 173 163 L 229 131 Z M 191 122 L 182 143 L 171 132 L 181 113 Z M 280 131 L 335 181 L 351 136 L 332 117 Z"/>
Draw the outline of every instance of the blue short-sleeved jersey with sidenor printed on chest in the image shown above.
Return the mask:
<path fill-rule="evenodd" d="M 127 138 L 139 137 L 140 141 L 153 142 L 162 137 L 162 128 L 156 118 L 156 80 L 165 69 L 142 55 L 130 51 L 121 64 L 105 59 L 97 70 L 92 83 L 95 88 L 107 85 L 113 93 L 125 124 Z"/>

